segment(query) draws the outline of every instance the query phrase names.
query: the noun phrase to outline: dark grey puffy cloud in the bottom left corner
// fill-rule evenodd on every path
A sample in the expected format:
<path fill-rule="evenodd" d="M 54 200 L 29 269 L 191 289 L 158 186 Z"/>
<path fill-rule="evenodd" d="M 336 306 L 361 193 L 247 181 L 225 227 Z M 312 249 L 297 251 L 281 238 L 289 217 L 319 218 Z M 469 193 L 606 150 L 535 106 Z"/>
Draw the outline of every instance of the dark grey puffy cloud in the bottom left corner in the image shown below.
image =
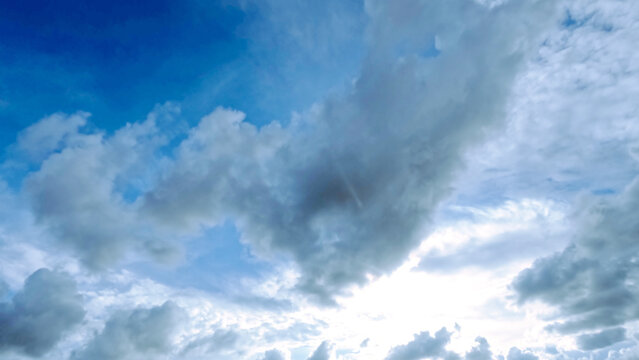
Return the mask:
<path fill-rule="evenodd" d="M 0 351 L 43 355 L 84 314 L 75 281 L 67 274 L 40 269 L 27 278 L 11 302 L 0 303 Z"/>

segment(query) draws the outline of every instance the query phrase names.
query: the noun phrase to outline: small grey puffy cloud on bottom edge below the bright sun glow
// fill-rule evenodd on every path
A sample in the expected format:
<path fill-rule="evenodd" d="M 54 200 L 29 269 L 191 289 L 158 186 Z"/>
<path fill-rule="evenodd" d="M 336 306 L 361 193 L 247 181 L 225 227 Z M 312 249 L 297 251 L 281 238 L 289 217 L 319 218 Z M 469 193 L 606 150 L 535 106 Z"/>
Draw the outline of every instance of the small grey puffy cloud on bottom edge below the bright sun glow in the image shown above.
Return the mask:
<path fill-rule="evenodd" d="M 428 331 L 415 335 L 413 341 L 391 349 L 386 360 L 418 360 L 423 358 L 459 359 L 459 355 L 446 350 L 450 335 L 446 328 L 441 328 L 431 336 Z"/>

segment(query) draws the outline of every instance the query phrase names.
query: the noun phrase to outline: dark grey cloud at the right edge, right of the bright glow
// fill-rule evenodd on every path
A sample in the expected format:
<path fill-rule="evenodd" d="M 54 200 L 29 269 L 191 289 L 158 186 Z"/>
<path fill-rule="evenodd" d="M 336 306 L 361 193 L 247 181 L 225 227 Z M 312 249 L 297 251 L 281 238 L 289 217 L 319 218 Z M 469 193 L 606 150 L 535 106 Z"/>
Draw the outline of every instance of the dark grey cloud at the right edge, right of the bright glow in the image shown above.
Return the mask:
<path fill-rule="evenodd" d="M 579 208 L 573 244 L 535 261 L 512 284 L 520 303 L 540 300 L 558 307 L 561 321 L 549 329 L 561 333 L 622 325 L 639 317 L 639 293 L 633 285 L 639 276 L 639 181 L 619 195 L 585 200 Z"/>

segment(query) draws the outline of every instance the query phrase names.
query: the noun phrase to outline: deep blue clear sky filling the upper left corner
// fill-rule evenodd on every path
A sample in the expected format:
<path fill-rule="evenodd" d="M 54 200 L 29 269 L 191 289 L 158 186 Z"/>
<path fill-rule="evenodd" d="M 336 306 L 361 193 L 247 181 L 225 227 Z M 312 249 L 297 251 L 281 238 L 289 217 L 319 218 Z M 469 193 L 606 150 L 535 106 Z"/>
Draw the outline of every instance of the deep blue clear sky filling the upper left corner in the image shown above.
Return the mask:
<path fill-rule="evenodd" d="M 113 131 L 166 101 L 191 124 L 286 122 L 357 74 L 364 22 L 359 0 L 0 2 L 0 145 L 54 112 Z"/>

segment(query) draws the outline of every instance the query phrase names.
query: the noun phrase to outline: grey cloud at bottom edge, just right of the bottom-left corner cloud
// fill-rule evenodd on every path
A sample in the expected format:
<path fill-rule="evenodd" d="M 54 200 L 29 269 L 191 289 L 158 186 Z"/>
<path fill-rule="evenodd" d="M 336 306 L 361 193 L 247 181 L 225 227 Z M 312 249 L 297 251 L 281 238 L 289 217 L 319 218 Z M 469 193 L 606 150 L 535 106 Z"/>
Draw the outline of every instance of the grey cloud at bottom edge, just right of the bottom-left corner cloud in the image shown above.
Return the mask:
<path fill-rule="evenodd" d="M 173 302 L 116 312 L 104 329 L 72 359 L 132 359 L 159 357 L 172 350 L 184 311 Z"/>

